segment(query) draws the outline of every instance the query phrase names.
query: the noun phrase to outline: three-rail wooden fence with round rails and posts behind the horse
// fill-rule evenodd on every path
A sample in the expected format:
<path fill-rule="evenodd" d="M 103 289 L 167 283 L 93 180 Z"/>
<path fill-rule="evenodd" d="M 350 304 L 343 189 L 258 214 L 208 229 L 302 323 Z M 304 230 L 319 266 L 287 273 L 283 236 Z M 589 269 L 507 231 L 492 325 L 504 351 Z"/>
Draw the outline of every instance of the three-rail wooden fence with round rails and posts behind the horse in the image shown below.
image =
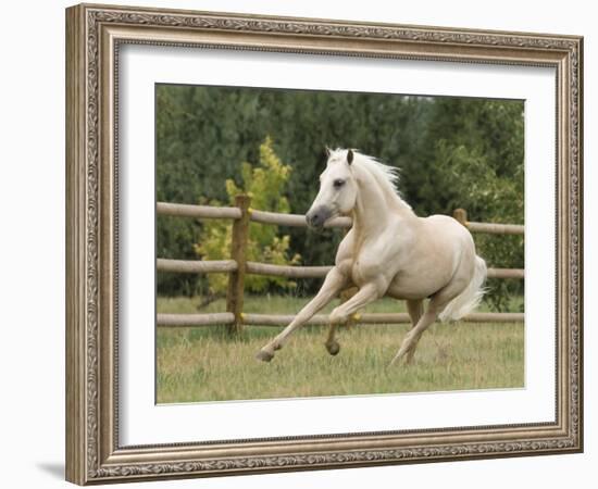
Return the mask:
<path fill-rule="evenodd" d="M 227 273 L 228 290 L 226 294 L 226 312 L 211 314 L 158 314 L 158 326 L 212 326 L 228 325 L 231 331 L 240 331 L 244 325 L 285 326 L 294 318 L 292 315 L 274 314 L 246 314 L 244 306 L 245 275 L 270 275 L 287 278 L 319 278 L 324 277 L 331 266 L 285 266 L 266 263 L 250 262 L 246 259 L 249 223 L 262 223 L 264 225 L 307 227 L 306 217 L 298 214 L 281 214 L 250 209 L 248 196 L 237 196 L 235 206 L 215 208 L 208 205 L 188 205 L 177 203 L 158 202 L 159 215 L 184 216 L 195 218 L 220 218 L 233 221 L 233 242 L 229 260 L 157 260 L 158 272 L 210 274 Z M 472 233 L 489 233 L 497 235 L 523 235 L 524 226 L 515 224 L 473 223 L 468 221 L 464 210 L 454 211 L 453 217 Z M 350 217 L 337 217 L 326 223 L 326 227 L 350 227 Z M 490 278 L 524 278 L 524 269 L 521 268 L 488 268 Z M 357 315 L 354 321 L 359 324 L 394 324 L 410 323 L 409 315 L 404 313 L 386 314 L 371 313 Z M 468 322 L 504 323 L 523 321 L 523 313 L 474 313 L 468 315 Z M 316 314 L 308 324 L 327 324 L 328 316 Z"/>

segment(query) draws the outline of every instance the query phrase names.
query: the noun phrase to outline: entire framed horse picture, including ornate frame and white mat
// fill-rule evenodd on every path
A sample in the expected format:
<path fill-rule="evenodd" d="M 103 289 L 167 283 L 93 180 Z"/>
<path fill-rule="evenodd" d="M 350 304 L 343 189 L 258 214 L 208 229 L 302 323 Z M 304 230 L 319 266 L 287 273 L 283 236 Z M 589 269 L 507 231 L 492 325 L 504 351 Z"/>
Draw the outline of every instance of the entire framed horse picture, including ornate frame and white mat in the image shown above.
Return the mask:
<path fill-rule="evenodd" d="M 66 478 L 583 450 L 583 39 L 66 10 Z"/>

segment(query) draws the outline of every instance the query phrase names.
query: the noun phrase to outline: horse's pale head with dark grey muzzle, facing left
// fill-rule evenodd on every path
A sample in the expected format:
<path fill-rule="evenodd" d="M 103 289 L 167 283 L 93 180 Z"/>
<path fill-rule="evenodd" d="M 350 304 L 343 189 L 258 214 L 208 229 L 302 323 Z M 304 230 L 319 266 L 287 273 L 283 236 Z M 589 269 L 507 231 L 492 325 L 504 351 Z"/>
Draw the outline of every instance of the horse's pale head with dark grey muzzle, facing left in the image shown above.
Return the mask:
<path fill-rule="evenodd" d="M 357 184 L 353 177 L 351 150 L 334 151 L 320 175 L 320 191 L 306 217 L 308 223 L 321 227 L 339 214 L 348 214 L 356 204 Z"/>

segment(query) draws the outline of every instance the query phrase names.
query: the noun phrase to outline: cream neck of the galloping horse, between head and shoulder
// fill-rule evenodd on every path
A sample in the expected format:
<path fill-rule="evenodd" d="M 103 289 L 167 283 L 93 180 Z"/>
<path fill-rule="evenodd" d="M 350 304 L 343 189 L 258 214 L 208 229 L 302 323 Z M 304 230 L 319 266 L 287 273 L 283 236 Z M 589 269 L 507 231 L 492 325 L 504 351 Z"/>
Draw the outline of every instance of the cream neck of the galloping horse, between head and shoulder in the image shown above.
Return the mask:
<path fill-rule="evenodd" d="M 367 236 L 379 234 L 386 228 L 393 215 L 399 214 L 404 218 L 415 216 L 399 196 L 382 187 L 364 168 L 358 170 L 357 183 L 359 191 L 353 209 L 353 227 L 358 233 Z"/>

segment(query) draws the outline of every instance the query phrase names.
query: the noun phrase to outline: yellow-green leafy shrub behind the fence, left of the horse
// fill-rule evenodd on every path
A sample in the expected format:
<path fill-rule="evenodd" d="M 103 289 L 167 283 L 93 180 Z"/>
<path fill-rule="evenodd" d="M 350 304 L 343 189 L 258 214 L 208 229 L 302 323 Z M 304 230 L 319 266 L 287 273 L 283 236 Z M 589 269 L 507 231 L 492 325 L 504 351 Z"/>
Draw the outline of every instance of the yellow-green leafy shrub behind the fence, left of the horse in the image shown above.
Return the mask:
<path fill-rule="evenodd" d="M 253 166 L 247 162 L 242 163 L 242 185 L 239 187 L 233 179 L 226 180 L 228 203 L 234 204 L 236 196 L 246 193 L 251 198 L 251 206 L 254 209 L 288 213 L 289 204 L 284 191 L 290 172 L 291 167 L 281 161 L 274 152 L 272 139 L 266 137 L 260 145 L 259 164 Z M 217 201 L 210 203 L 220 205 Z M 231 241 L 231 224 L 212 221 L 203 225 L 196 252 L 203 260 L 222 260 L 228 256 Z M 278 226 L 250 223 L 247 259 L 275 265 L 294 265 L 299 263 L 300 255 L 296 253 L 289 256 L 289 237 L 278 236 Z M 228 276 L 211 274 L 208 281 L 212 293 L 222 293 L 226 290 Z M 246 289 L 252 292 L 264 291 L 271 286 L 290 288 L 295 285 L 285 277 L 247 275 L 245 279 Z"/>

